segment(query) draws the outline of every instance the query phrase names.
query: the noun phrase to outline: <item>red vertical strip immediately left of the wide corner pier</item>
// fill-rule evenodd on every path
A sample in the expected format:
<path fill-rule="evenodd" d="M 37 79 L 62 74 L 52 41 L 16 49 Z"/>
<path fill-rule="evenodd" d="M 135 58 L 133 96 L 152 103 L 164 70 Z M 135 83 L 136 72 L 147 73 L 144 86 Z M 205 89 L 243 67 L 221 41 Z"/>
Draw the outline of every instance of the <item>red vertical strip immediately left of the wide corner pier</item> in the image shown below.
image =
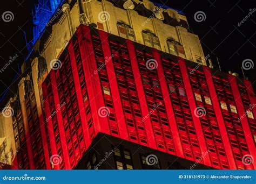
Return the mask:
<path fill-rule="evenodd" d="M 90 138 L 89 126 L 87 124 L 87 119 L 86 119 L 86 113 L 85 113 L 85 108 L 84 108 L 84 103 L 83 103 L 84 102 L 83 95 L 82 95 L 82 91 L 81 91 L 81 87 L 80 87 L 79 75 L 78 75 L 77 65 L 76 65 L 76 57 L 75 57 L 75 53 L 73 51 L 72 41 L 69 44 L 68 51 L 69 51 L 70 62 L 71 62 L 71 67 L 72 67 L 73 80 L 74 80 L 75 88 L 76 88 L 79 115 L 80 115 L 80 118 L 82 121 L 81 124 L 82 124 L 82 129 L 83 129 L 84 142 L 85 142 L 85 146 L 87 149 L 91 144 L 91 138 Z"/>

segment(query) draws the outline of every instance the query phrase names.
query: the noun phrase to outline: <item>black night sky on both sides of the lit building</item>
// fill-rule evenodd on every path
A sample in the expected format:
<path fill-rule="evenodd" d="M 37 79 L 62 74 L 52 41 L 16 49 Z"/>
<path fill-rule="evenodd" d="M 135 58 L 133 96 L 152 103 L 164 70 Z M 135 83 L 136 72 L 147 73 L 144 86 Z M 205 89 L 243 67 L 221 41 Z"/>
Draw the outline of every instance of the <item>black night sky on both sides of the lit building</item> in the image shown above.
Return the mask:
<path fill-rule="evenodd" d="M 256 62 L 255 24 L 256 10 L 245 23 L 238 26 L 250 10 L 256 8 L 255 0 L 247 1 L 220 1 L 220 0 L 179 0 L 179 1 L 155 1 L 166 4 L 174 9 L 182 10 L 188 24 L 195 34 L 201 39 L 205 55 L 210 54 L 215 68 L 218 67 L 216 56 L 220 61 L 221 69 L 225 72 L 232 70 L 242 76 L 242 61 L 246 59 Z M 28 40 L 32 38 L 31 9 L 35 0 L 8 0 L 1 3 L 0 11 L 0 70 L 9 61 L 10 57 L 18 55 L 11 65 L 0 72 L 0 96 L 13 82 L 18 70 L 18 63 L 22 63 L 28 54 L 24 39 L 24 31 Z M 6 11 L 14 14 L 14 20 L 4 22 L 2 15 Z M 194 15 L 203 11 L 206 15 L 203 22 L 197 22 Z M 245 70 L 245 75 L 250 81 L 256 80 L 255 68 Z M 254 83 L 254 90 L 255 90 Z M 1 97 L 0 97 L 1 99 Z"/>

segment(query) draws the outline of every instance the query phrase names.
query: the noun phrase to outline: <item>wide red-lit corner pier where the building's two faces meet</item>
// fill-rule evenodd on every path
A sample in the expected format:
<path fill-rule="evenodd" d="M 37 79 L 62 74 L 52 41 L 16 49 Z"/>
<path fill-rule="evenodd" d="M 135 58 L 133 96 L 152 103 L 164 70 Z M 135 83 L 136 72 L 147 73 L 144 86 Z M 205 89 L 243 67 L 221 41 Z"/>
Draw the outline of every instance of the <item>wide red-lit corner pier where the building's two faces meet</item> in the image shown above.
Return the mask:
<path fill-rule="evenodd" d="M 109 122 L 107 117 L 100 117 L 98 110 L 101 107 L 105 107 L 102 87 L 99 80 L 97 71 L 97 63 L 95 59 L 95 53 L 92 45 L 92 38 L 90 28 L 85 25 L 81 25 L 77 30 L 78 44 L 80 54 L 83 63 L 85 81 L 87 86 L 87 93 L 89 96 L 93 126 L 95 128 L 95 135 L 98 132 L 110 133 Z"/>

